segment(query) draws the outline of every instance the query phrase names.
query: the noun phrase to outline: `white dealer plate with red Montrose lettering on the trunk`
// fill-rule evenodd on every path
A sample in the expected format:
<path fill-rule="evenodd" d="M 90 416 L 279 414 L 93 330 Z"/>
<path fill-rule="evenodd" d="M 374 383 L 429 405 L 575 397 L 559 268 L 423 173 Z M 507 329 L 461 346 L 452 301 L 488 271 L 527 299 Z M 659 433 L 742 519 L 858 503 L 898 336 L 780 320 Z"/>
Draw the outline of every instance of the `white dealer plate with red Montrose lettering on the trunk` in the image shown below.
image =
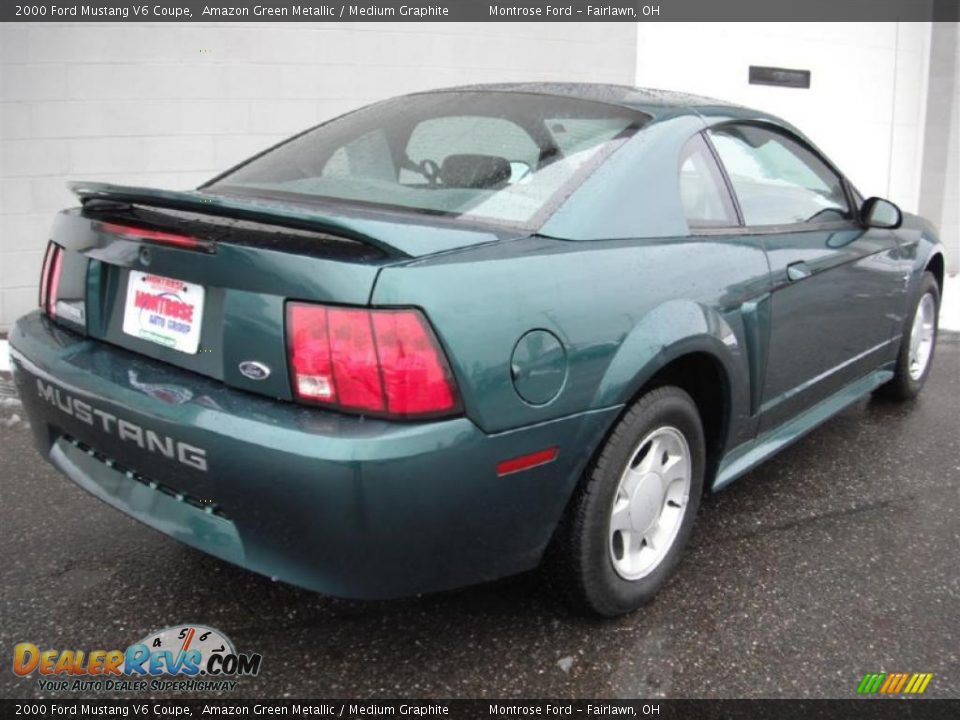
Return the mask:
<path fill-rule="evenodd" d="M 200 347 L 203 285 L 131 270 L 123 332 L 194 354 Z"/>

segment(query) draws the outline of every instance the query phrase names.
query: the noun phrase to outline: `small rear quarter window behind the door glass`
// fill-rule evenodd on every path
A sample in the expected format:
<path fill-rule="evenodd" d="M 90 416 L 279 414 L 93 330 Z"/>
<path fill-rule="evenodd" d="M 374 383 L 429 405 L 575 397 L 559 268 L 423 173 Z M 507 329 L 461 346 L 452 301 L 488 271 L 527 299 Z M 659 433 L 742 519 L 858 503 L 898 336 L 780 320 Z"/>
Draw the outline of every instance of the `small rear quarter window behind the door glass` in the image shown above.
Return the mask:
<path fill-rule="evenodd" d="M 702 135 L 690 138 L 680 154 L 680 201 L 692 229 L 737 225 L 730 195 Z"/>

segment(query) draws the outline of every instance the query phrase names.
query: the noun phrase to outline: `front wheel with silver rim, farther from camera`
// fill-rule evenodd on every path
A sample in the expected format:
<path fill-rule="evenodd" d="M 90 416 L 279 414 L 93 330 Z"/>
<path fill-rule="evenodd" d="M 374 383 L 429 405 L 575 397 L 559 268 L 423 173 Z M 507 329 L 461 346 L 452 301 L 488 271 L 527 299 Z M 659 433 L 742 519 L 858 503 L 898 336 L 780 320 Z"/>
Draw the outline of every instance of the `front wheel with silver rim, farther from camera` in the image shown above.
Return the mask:
<path fill-rule="evenodd" d="M 920 279 L 917 299 L 910 308 L 900 340 L 893 379 L 879 389 L 882 396 L 904 401 L 912 400 L 920 394 L 933 365 L 939 313 L 940 286 L 933 274 L 927 272 Z M 919 346 L 915 343 L 926 339 L 929 339 L 929 349 L 921 357 L 917 353 Z M 918 361 L 921 361 L 922 365 L 918 365 Z"/>

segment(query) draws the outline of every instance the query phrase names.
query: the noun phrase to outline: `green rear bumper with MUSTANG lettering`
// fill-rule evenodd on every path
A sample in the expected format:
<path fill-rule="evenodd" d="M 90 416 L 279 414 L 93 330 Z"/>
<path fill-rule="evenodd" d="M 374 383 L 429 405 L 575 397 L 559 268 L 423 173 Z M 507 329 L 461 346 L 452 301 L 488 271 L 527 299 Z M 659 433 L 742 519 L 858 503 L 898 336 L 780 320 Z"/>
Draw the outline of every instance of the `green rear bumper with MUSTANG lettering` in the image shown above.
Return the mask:
<path fill-rule="evenodd" d="M 10 344 L 37 448 L 74 482 L 188 545 L 341 597 L 535 566 L 618 412 L 487 435 L 466 418 L 391 423 L 258 397 L 39 313 Z M 497 462 L 555 445 L 549 465 L 497 477 Z"/>

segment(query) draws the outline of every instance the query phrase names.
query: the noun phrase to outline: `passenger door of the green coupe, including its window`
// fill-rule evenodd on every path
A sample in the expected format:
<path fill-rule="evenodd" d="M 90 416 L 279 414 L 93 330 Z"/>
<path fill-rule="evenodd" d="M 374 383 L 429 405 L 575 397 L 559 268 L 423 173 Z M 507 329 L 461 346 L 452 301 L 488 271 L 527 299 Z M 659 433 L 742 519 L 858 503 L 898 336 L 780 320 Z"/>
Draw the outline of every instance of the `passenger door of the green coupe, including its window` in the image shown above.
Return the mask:
<path fill-rule="evenodd" d="M 893 358 L 897 244 L 862 227 L 843 178 L 800 138 L 752 123 L 708 137 L 770 263 L 764 432 Z"/>

